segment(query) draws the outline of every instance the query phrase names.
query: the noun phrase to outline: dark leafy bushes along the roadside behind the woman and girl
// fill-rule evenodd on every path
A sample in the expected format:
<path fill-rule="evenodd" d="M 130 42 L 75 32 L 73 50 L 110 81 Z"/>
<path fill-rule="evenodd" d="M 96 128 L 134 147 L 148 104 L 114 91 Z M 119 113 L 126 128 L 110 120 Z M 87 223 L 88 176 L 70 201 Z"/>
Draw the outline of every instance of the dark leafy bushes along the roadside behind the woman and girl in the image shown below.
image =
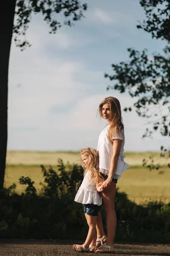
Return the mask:
<path fill-rule="evenodd" d="M 88 225 L 82 205 L 74 197 L 83 179 L 78 165 L 66 168 L 59 159 L 57 172 L 41 166 L 44 183 L 40 195 L 29 177 L 20 177 L 27 185 L 18 195 L 15 184 L 0 191 L 0 238 L 12 239 L 85 239 Z M 125 192 L 116 190 L 116 241 L 170 241 L 170 204 L 151 201 L 137 205 Z M 106 229 L 105 211 L 101 209 Z"/>

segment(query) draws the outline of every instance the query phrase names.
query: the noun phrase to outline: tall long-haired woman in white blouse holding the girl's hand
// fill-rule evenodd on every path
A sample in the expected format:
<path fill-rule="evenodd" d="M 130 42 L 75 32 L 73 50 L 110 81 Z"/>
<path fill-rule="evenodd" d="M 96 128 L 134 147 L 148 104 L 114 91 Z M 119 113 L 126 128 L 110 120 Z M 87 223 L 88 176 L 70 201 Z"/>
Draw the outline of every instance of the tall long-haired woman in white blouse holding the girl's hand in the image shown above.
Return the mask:
<path fill-rule="evenodd" d="M 106 212 L 107 241 L 95 253 L 113 252 L 113 241 L 116 231 L 116 213 L 114 208 L 114 197 L 116 193 L 117 180 L 130 166 L 124 162 L 123 155 L 125 134 L 122 123 L 120 102 L 115 97 L 105 98 L 99 105 L 99 114 L 108 125 L 99 135 L 97 150 L 99 151 L 99 171 L 105 181 L 102 183 L 102 203 Z M 101 217 L 100 217 L 101 218 Z M 99 221 L 99 218 L 98 220 Z M 98 236 L 99 230 L 98 231 Z"/>

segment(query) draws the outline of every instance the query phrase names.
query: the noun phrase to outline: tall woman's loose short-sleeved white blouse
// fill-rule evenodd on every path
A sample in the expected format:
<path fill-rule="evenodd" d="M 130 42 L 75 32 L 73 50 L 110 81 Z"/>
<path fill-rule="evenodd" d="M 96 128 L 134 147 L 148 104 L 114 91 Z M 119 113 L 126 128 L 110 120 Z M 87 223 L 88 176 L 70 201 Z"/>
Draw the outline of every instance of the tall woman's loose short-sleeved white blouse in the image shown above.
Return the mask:
<path fill-rule="evenodd" d="M 108 139 L 108 130 L 110 125 L 106 126 L 105 129 L 99 135 L 99 141 L 97 150 L 99 151 L 99 169 L 104 174 L 108 175 L 110 165 L 111 165 L 111 158 L 113 155 L 113 145 Z M 116 168 L 116 177 L 119 178 L 122 176 L 122 172 L 124 172 L 130 166 L 124 162 L 125 155 L 123 155 L 124 145 L 125 145 L 125 134 L 124 129 L 122 129 L 120 134 L 112 137 L 112 139 L 119 139 L 122 140 L 122 146 L 119 154 L 119 159 Z M 102 171 L 103 169 L 103 171 Z"/>

